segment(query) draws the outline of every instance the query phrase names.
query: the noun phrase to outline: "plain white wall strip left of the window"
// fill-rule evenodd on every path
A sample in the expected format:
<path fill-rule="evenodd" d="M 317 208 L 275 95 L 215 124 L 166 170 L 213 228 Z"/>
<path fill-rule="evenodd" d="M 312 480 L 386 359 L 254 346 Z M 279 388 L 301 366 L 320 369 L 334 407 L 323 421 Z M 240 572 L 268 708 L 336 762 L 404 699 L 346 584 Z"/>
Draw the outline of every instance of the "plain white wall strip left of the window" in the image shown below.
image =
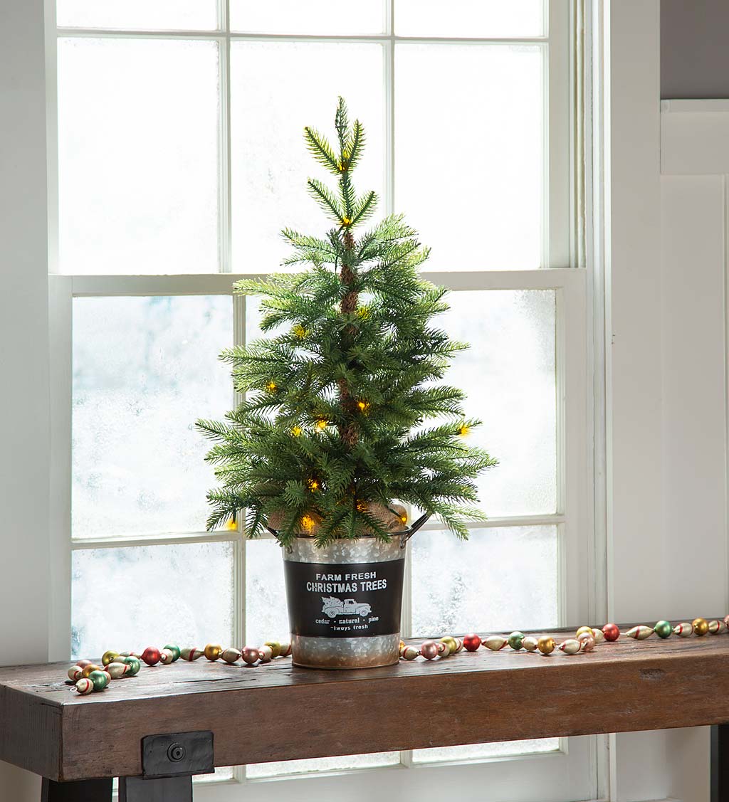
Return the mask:
<path fill-rule="evenodd" d="M 43 5 L 0 3 L 0 664 L 48 643 L 47 177 Z M 0 764 L 0 799 L 38 779 Z"/>

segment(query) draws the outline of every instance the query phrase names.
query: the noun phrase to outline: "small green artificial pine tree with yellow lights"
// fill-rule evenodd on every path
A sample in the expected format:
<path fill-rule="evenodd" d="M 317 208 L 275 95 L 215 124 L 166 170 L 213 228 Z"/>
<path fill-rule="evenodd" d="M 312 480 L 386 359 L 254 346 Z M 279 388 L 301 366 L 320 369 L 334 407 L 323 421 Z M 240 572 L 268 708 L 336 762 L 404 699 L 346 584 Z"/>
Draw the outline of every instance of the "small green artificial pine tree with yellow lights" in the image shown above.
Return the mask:
<path fill-rule="evenodd" d="M 197 422 L 215 442 L 206 459 L 221 482 L 208 495 L 208 526 L 245 510 L 250 537 L 275 518 L 283 544 L 307 533 L 318 545 L 388 541 L 376 511 L 399 500 L 468 537 L 464 521 L 484 517 L 473 480 L 496 460 L 464 442 L 479 423 L 464 418 L 464 393 L 435 384 L 468 346 L 431 324 L 448 309 L 447 290 L 419 277 L 428 249 L 402 215 L 355 237 L 377 197 L 354 190 L 365 132 L 341 98 L 334 127 L 336 150 L 305 128 L 310 152 L 338 179 L 336 192 L 307 182 L 333 227 L 323 238 L 282 232 L 294 248 L 283 264 L 308 265 L 303 272 L 235 286 L 263 296 L 270 336 L 221 354 L 245 400 L 226 423 Z"/>

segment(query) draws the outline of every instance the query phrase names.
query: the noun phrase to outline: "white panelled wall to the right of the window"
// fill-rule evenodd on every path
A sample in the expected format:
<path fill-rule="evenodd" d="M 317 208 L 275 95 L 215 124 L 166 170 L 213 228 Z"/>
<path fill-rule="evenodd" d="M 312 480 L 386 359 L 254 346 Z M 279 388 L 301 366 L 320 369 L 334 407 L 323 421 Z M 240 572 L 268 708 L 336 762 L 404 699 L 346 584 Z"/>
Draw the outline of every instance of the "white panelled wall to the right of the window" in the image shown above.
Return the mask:
<path fill-rule="evenodd" d="M 665 112 L 662 125 L 658 0 L 606 7 L 611 618 L 716 615 L 727 604 L 726 210 L 723 178 L 679 167 L 678 146 L 705 167 L 729 128 Z M 617 735 L 613 747 L 614 802 L 708 802 L 707 728 Z"/>

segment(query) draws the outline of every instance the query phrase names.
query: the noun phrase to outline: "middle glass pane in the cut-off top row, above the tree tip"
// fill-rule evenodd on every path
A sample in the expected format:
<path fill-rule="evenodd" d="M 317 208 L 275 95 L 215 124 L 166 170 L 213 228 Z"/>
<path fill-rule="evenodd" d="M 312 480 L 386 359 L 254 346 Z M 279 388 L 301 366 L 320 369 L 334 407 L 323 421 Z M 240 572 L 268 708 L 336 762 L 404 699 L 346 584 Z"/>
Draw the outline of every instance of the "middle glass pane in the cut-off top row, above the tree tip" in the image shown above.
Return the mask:
<path fill-rule="evenodd" d="M 267 34 L 381 34 L 385 3 L 367 0 L 230 0 L 231 30 Z"/>

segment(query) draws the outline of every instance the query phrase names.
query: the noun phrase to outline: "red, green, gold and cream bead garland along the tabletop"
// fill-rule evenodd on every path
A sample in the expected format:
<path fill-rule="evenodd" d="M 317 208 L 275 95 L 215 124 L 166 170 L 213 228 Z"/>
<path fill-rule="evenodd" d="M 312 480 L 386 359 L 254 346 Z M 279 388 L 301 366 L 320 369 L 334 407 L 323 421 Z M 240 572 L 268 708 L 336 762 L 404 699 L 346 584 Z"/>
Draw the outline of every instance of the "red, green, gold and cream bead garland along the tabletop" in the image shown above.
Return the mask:
<path fill-rule="evenodd" d="M 592 626 L 581 626 L 574 637 L 565 638 L 557 643 L 551 635 L 525 635 L 519 630 L 515 630 L 508 637 L 503 635 L 487 635 L 481 638 L 480 635 L 471 633 L 464 635 L 463 638 L 455 638 L 446 635 L 439 640 L 426 640 L 420 646 L 412 646 L 400 641 L 400 658 L 402 660 L 415 660 L 422 657 L 426 660 L 435 658 L 445 659 L 452 654 L 457 654 L 462 650 L 475 652 L 484 646 L 490 651 L 500 651 L 508 646 L 514 651 L 524 650 L 527 652 L 538 652 L 540 654 L 552 654 L 555 649 L 563 654 L 577 654 L 579 652 L 592 652 L 598 643 L 615 642 L 621 635 L 626 638 L 633 638 L 636 641 L 643 641 L 652 637 L 654 634 L 658 638 L 670 638 L 676 635 L 678 638 L 689 638 L 695 635 L 703 638 L 707 634 L 719 635 L 729 631 L 729 615 L 722 621 L 714 619 L 707 621 L 706 618 L 695 618 L 691 623 L 671 625 L 667 621 L 659 621 L 654 626 L 633 626 L 626 632 L 621 632 L 617 624 L 605 624 L 601 628 Z M 271 662 L 275 658 L 288 657 L 291 654 L 290 643 L 280 643 L 277 641 L 266 641 L 263 646 L 244 646 L 236 649 L 229 646 L 223 649 L 217 643 L 209 643 L 204 649 L 197 646 L 186 646 L 180 649 L 173 643 L 168 643 L 162 649 L 156 646 L 148 646 L 142 654 L 136 652 L 115 651 L 104 652 L 101 658 L 101 666 L 91 660 L 78 660 L 75 665 L 68 670 L 68 678 L 75 683 L 75 689 L 79 694 L 87 695 L 94 691 L 103 691 L 113 679 L 122 677 L 133 677 L 141 668 L 142 662 L 148 666 L 156 666 L 157 663 L 168 665 L 179 659 L 192 662 L 201 657 L 207 658 L 210 662 L 223 660 L 229 665 L 235 665 L 239 660 L 248 666 L 256 663 L 263 665 Z"/>

